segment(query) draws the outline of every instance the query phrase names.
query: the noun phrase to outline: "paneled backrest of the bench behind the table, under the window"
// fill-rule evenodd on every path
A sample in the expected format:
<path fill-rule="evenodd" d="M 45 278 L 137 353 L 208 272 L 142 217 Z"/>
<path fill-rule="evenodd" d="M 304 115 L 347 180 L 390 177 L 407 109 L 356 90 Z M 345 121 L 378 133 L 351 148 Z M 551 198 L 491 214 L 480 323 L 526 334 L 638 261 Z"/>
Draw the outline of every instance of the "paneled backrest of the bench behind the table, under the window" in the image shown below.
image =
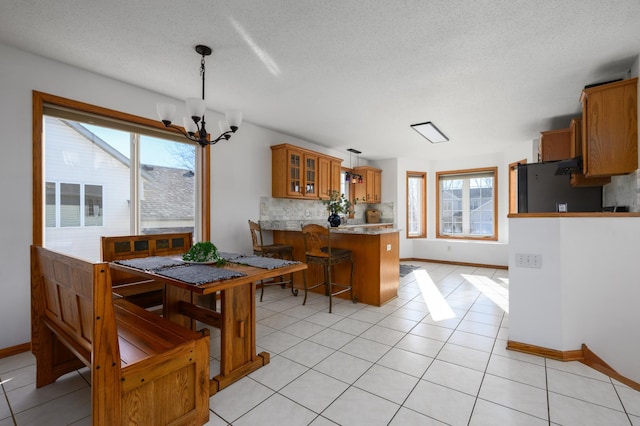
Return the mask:
<path fill-rule="evenodd" d="M 101 238 L 103 261 L 136 257 L 168 256 L 189 251 L 193 243 L 191 232 L 172 234 L 122 235 Z"/>

